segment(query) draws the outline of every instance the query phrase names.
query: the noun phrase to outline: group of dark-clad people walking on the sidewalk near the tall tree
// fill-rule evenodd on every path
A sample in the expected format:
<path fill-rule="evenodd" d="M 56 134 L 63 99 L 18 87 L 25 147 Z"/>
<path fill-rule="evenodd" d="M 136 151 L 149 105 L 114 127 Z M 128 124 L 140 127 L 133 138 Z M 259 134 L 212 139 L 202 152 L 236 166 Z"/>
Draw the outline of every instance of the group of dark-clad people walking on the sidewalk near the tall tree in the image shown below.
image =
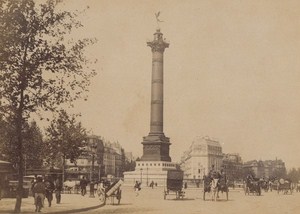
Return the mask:
<path fill-rule="evenodd" d="M 43 179 L 42 176 L 37 176 L 32 181 L 31 191 L 34 197 L 35 211 L 40 212 L 41 207 L 38 206 L 37 200 L 38 197 L 41 199 L 42 207 L 44 207 L 45 198 L 48 201 L 48 206 L 51 207 L 53 200 L 53 193 L 55 192 L 56 203 L 61 202 L 61 191 L 62 191 L 62 181 L 60 178 L 53 179 L 50 176 L 45 176 Z"/>

